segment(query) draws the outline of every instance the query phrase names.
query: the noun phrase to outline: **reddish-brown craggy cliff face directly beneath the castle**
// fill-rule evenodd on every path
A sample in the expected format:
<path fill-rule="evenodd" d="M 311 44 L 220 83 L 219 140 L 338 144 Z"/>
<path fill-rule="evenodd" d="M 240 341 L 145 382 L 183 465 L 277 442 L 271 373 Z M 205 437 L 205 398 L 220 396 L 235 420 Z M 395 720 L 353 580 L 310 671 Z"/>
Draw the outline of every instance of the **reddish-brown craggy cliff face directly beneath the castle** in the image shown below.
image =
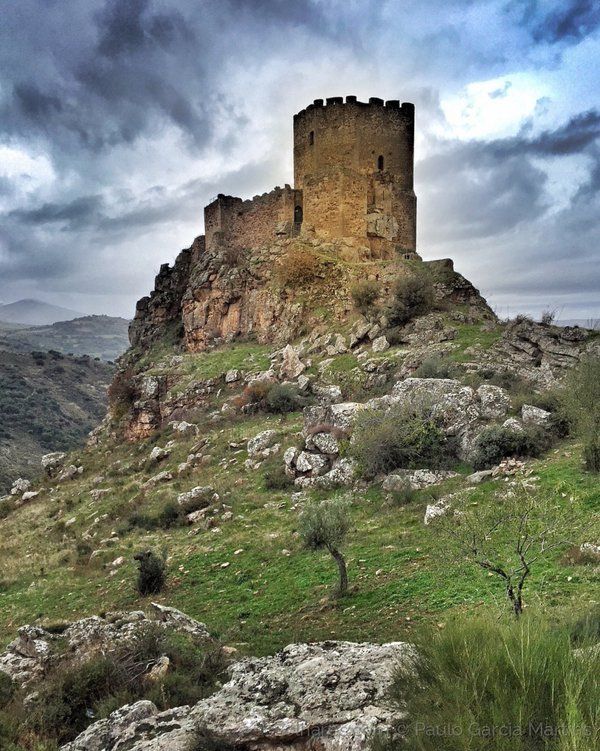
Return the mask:
<path fill-rule="evenodd" d="M 315 326 L 332 328 L 352 313 L 350 290 L 357 280 L 376 280 L 385 296 L 415 263 L 360 258 L 360 248 L 351 240 L 285 238 L 240 253 L 227 246 L 208 250 L 199 237 L 173 268 L 161 267 L 155 289 L 139 301 L 131 344 L 143 350 L 169 341 L 184 351 L 200 352 L 240 337 L 285 344 Z M 494 318 L 451 261 L 424 266 L 434 277 L 438 301 L 467 305 Z"/>

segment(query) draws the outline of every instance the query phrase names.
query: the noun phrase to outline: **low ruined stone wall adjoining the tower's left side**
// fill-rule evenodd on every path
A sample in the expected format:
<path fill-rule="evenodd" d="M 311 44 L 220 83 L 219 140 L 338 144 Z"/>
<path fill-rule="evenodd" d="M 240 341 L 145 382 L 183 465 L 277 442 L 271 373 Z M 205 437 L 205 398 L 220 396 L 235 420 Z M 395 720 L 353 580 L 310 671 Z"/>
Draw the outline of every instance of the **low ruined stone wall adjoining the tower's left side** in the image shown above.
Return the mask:
<path fill-rule="evenodd" d="M 219 195 L 204 209 L 207 248 L 258 248 L 277 235 L 290 235 L 302 211 L 302 191 L 289 185 L 243 201 Z"/>

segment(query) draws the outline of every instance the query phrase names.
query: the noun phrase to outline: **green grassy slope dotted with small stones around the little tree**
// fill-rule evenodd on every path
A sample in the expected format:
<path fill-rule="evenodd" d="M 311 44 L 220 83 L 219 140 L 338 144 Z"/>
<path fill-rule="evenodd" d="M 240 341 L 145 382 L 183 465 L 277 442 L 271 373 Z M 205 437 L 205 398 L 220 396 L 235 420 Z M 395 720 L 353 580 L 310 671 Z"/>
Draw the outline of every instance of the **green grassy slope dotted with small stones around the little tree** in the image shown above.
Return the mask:
<path fill-rule="evenodd" d="M 473 332 L 463 338 L 461 346 L 470 346 Z M 267 351 L 252 345 L 246 354 L 252 354 L 258 367 L 264 365 Z M 232 362 L 247 363 L 240 356 L 239 349 L 186 356 L 178 367 L 184 373 L 191 368 L 197 377 L 198 372 L 224 372 Z M 429 499 L 426 492 L 409 506 L 397 508 L 386 505 L 374 488 L 353 497 L 347 545 L 353 590 L 343 600 L 330 600 L 335 567 L 327 555 L 301 549 L 294 534 L 297 509 L 290 493 L 266 490 L 261 470 L 244 470 L 244 448 L 230 446 L 270 427 L 281 434 L 284 447 L 297 445 L 301 415 L 283 421 L 275 416 L 240 416 L 218 424 L 207 421 L 206 426 L 212 461 L 184 479 L 140 494 L 139 486 L 149 476 L 140 463 L 154 445 L 164 445 L 172 437 L 166 430 L 145 443 L 79 452 L 76 462 L 85 467 L 81 478 L 44 492 L 0 521 L 1 641 L 36 618 L 43 623 L 72 620 L 99 608 L 143 607 L 143 598 L 135 592 L 132 561 L 141 547 L 164 548 L 170 556 L 168 587 L 156 599 L 205 621 L 211 631 L 251 653 L 333 636 L 404 638 L 415 622 L 441 623 L 452 612 L 472 611 L 482 603 L 503 605 L 501 585 L 495 579 L 449 564 L 435 529 L 422 523 Z M 175 469 L 192 443 L 179 439 L 159 469 Z M 597 479 L 582 473 L 577 444 L 566 443 L 532 464 L 549 493 L 573 497 L 574 523 L 600 511 Z M 97 475 L 104 476 L 102 483 L 92 482 Z M 442 490 L 451 491 L 463 482 L 454 479 Z M 472 500 L 491 502 L 494 486 L 501 482 L 476 488 Z M 127 529 L 124 520 L 134 510 L 158 511 L 178 492 L 204 484 L 213 485 L 234 512 L 233 520 L 223 522 L 218 530 L 196 534 L 188 527 L 153 532 Z M 94 502 L 89 495 L 93 487 L 111 488 L 111 493 Z M 67 525 L 70 519 L 75 521 Z M 102 555 L 91 563 L 78 562 L 78 540 L 90 527 L 97 530 L 96 541 L 113 533 L 118 539 L 104 546 Z M 94 547 L 103 546 L 95 542 Z M 119 555 L 125 556 L 126 563 L 111 576 L 102 564 Z M 561 556 L 557 552 L 536 569 L 528 596 L 529 603 L 543 596 L 545 606 L 557 613 L 584 607 L 597 598 L 595 569 L 566 566 Z"/>

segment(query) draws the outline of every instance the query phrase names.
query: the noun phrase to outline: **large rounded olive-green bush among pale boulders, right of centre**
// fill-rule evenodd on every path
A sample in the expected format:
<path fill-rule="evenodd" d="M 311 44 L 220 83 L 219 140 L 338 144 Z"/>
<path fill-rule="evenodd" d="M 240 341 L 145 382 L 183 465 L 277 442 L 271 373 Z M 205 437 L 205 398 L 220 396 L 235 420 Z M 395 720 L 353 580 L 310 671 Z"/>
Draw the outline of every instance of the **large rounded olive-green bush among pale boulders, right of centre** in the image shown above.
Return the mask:
<path fill-rule="evenodd" d="M 368 478 L 394 469 L 446 466 L 450 457 L 446 436 L 427 411 L 405 406 L 360 412 L 349 451 Z"/>

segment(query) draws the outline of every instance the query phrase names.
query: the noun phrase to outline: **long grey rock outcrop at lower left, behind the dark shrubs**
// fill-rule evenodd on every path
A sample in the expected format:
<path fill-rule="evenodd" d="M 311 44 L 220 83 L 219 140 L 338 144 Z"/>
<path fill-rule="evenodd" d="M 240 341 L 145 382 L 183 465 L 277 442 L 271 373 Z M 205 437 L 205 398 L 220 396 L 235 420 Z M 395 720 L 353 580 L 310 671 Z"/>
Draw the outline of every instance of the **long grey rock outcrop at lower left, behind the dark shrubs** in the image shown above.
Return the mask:
<path fill-rule="evenodd" d="M 43 678 L 57 663 L 76 666 L 99 651 L 114 650 L 142 634 L 150 624 L 168 631 L 192 635 L 202 641 L 210 639 L 203 623 L 175 608 L 152 604 L 153 612 L 141 610 L 107 613 L 65 624 L 58 633 L 40 626 L 22 626 L 17 638 L 0 654 L 0 672 L 7 673 L 21 687 Z"/>

